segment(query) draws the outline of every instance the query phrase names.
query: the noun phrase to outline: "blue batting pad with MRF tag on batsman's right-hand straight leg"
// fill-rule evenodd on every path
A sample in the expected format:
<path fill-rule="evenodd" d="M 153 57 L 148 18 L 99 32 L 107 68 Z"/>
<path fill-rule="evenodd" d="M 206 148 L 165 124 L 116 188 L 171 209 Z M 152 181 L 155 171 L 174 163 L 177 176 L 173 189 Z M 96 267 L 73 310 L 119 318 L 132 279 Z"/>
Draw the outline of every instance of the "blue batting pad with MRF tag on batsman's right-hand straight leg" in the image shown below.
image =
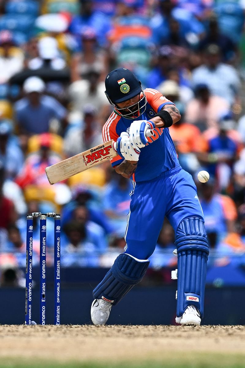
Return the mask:
<path fill-rule="evenodd" d="M 208 240 L 205 225 L 199 217 L 183 220 L 176 231 L 178 255 L 177 317 L 188 305 L 197 307 L 203 317 Z"/>

